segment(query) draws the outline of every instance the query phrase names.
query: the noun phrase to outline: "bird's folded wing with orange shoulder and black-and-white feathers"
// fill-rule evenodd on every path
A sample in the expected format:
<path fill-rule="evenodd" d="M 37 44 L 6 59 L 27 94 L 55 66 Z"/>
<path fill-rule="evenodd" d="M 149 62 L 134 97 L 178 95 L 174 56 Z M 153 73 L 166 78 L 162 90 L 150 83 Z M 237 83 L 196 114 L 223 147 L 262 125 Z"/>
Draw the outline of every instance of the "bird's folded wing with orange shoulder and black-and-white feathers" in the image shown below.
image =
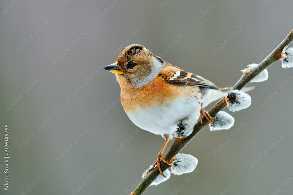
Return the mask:
<path fill-rule="evenodd" d="M 158 77 L 161 77 L 165 82 L 176 85 L 195 85 L 200 87 L 207 87 L 212 89 L 218 89 L 218 87 L 211 81 L 195 75 L 193 73 L 186 72 L 181 68 L 169 63 L 163 64 L 163 69 L 158 74 Z"/>

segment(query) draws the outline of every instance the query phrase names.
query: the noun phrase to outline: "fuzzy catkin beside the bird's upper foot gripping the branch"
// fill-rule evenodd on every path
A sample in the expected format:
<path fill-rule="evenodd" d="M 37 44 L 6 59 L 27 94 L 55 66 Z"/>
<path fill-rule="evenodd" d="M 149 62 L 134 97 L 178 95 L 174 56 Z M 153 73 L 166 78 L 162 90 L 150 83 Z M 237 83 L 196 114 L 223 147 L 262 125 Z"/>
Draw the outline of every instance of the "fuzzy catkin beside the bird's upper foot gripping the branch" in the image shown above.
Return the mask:
<path fill-rule="evenodd" d="M 218 131 L 223 129 L 230 129 L 234 125 L 233 116 L 229 115 L 225 111 L 219 111 L 213 119 L 214 126 L 209 124 L 209 130 Z"/>

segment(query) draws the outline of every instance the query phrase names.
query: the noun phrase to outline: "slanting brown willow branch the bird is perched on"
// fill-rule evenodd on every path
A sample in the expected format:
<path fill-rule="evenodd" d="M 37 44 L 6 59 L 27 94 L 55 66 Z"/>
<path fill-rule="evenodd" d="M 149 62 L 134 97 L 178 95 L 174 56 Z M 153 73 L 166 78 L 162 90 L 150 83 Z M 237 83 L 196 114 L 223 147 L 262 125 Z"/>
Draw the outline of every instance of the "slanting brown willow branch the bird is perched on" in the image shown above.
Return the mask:
<path fill-rule="evenodd" d="M 272 63 L 278 61 L 280 59 L 280 53 L 283 51 L 284 47 L 289 45 L 293 40 L 293 30 L 287 35 L 287 37 L 253 70 L 251 70 L 248 74 L 243 74 L 239 81 L 232 87 L 232 89 L 242 89 L 245 87 L 256 75 L 260 72 L 268 68 Z M 226 106 L 224 99 L 220 99 L 218 103 L 209 111 L 211 117 L 214 117 L 219 111 L 221 111 Z M 193 132 L 184 139 L 175 139 L 171 149 L 168 151 L 164 159 L 166 161 L 171 160 L 173 156 L 175 156 L 181 149 L 195 137 L 205 126 L 207 126 L 209 122 L 204 118 L 202 120 L 202 124 L 198 122 L 193 128 Z M 168 169 L 170 165 L 161 161 L 161 170 L 165 171 Z M 156 179 L 156 177 L 160 174 L 158 168 L 154 168 L 146 177 L 142 179 L 142 181 L 138 184 L 136 189 L 132 192 L 133 195 L 142 194 L 149 185 Z"/>

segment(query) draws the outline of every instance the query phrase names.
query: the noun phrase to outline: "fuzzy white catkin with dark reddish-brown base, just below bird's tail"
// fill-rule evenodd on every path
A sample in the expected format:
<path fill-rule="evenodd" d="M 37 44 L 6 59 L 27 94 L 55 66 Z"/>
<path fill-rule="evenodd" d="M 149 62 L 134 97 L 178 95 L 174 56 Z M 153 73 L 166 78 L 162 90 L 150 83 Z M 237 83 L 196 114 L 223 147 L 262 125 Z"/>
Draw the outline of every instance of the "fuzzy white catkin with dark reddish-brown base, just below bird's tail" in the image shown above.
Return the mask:
<path fill-rule="evenodd" d="M 235 101 L 230 101 L 229 99 L 229 105 L 228 105 L 228 109 L 232 112 L 237 112 L 237 111 L 241 111 L 245 108 L 248 108 L 251 105 L 251 97 L 250 95 L 241 92 L 237 89 L 232 90 L 230 92 L 228 92 L 228 96 L 229 94 L 234 94 L 236 96 Z"/>

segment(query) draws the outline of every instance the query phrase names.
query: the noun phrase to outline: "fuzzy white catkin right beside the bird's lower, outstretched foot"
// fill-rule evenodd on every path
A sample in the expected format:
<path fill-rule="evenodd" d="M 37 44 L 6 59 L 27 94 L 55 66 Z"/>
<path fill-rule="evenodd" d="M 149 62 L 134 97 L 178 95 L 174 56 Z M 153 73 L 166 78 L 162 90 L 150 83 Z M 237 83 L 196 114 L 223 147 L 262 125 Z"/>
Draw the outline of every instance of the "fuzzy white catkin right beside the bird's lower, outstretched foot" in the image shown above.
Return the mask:
<path fill-rule="evenodd" d="M 190 154 L 178 153 L 174 157 L 171 166 L 171 173 L 174 175 L 182 175 L 184 173 L 193 172 L 198 160 Z"/>

